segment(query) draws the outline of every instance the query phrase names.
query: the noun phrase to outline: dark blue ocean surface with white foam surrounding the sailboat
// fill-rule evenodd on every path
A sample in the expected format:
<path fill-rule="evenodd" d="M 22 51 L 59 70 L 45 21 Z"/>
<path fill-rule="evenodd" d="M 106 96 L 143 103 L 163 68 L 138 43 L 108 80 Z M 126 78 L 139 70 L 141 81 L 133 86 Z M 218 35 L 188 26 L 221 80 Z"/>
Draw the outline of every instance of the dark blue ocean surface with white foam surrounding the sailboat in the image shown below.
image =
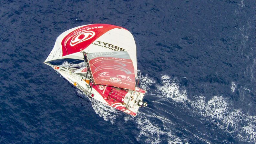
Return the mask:
<path fill-rule="evenodd" d="M 134 36 L 148 102 L 136 117 L 43 64 L 61 33 L 96 23 Z M 0 144 L 256 141 L 253 0 L 4 0 L 0 45 Z"/>

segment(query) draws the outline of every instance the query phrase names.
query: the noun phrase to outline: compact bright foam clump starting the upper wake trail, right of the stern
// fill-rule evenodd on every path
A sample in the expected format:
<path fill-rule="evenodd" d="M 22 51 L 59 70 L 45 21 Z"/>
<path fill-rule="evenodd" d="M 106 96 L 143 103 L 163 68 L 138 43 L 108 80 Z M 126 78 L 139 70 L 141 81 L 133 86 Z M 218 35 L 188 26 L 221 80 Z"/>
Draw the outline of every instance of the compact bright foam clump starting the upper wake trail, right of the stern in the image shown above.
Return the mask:
<path fill-rule="evenodd" d="M 161 84 L 157 86 L 157 89 L 161 92 L 162 96 L 177 102 L 188 100 L 186 89 L 181 90 L 176 79 L 171 79 L 170 76 L 164 75 L 161 77 Z"/>

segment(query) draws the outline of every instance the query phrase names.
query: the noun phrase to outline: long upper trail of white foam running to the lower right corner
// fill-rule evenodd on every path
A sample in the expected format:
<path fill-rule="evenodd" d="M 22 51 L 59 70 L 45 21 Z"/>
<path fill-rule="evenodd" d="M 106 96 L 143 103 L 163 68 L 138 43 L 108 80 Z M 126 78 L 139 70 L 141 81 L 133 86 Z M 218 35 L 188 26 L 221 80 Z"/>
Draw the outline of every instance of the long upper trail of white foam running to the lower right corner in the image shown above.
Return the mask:
<path fill-rule="evenodd" d="M 255 143 L 255 116 L 245 114 L 240 109 L 234 109 L 232 101 L 223 96 L 213 96 L 209 101 L 206 101 L 203 95 L 188 99 L 186 90 L 181 89 L 178 82 L 176 78 L 162 76 L 161 85 L 156 86 L 158 91 L 161 91 L 160 97 L 191 105 L 192 111 L 202 116 L 203 120 L 207 119 L 234 138 Z"/>

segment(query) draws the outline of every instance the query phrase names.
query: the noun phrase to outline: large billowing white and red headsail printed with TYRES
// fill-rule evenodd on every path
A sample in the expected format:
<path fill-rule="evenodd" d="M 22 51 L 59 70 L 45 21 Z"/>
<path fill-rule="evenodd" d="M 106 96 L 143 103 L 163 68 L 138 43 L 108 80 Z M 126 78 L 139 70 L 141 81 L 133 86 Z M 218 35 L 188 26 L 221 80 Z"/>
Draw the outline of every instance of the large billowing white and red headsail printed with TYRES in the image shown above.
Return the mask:
<path fill-rule="evenodd" d="M 125 28 L 109 24 L 83 25 L 62 33 L 45 62 L 83 59 L 81 49 L 87 53 L 127 51 L 137 76 L 136 45 L 132 34 Z"/>

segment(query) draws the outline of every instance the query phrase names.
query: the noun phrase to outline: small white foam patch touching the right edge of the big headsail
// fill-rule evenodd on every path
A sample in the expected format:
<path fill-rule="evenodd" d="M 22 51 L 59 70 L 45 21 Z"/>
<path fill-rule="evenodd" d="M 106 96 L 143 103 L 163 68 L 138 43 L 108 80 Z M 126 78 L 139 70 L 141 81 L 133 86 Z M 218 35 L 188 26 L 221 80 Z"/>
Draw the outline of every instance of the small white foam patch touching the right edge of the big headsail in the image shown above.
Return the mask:
<path fill-rule="evenodd" d="M 154 84 L 156 81 L 152 78 L 150 78 L 148 76 L 148 74 L 146 75 L 142 75 L 140 70 L 137 70 L 138 72 L 138 78 L 139 78 L 139 86 L 140 88 L 144 89 L 144 90 L 149 90 L 149 86 L 151 86 L 152 84 Z"/>

